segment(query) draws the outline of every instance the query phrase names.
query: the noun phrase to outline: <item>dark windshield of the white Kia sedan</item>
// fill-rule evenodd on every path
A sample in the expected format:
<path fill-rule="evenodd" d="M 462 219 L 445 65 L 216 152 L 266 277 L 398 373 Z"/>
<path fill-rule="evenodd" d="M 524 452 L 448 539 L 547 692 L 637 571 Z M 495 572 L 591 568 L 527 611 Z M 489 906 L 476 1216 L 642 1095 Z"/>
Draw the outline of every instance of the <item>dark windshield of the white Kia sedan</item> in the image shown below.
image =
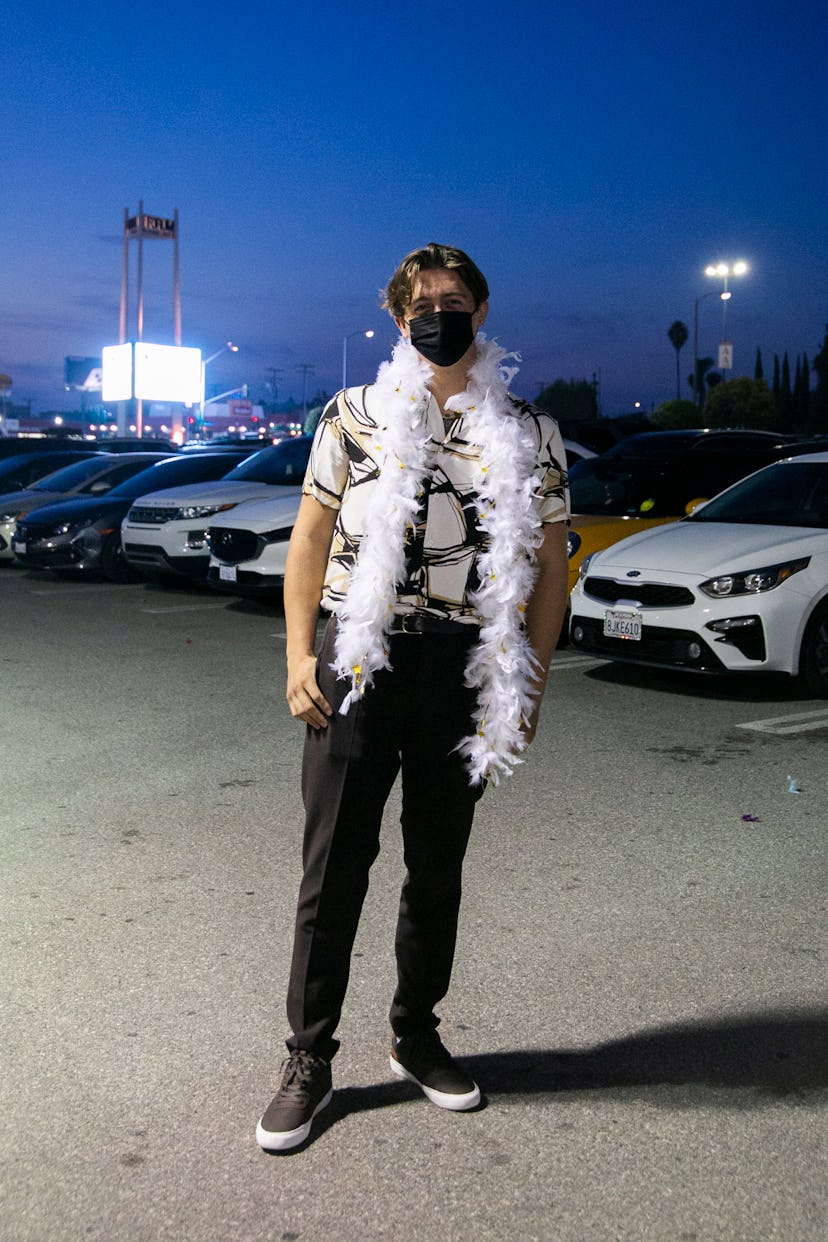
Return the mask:
<path fill-rule="evenodd" d="M 736 483 L 686 522 L 828 529 L 828 462 L 780 462 Z"/>

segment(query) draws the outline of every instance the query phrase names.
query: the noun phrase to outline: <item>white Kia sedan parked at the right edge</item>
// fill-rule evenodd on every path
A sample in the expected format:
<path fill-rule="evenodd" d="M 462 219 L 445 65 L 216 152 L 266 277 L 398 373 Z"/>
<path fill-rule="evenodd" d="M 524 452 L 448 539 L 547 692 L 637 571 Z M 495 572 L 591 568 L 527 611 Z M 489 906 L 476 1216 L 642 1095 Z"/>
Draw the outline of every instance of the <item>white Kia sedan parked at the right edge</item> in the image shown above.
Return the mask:
<path fill-rule="evenodd" d="M 828 696 L 828 452 L 775 462 L 680 522 L 593 553 L 570 604 L 585 653 L 788 673 Z"/>

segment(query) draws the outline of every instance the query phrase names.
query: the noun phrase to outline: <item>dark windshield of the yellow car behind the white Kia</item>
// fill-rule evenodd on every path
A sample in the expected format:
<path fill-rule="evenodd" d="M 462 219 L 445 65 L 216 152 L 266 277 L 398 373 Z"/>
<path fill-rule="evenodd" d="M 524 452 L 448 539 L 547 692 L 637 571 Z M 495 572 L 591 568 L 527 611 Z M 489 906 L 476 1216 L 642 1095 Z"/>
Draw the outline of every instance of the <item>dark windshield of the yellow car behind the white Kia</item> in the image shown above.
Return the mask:
<path fill-rule="evenodd" d="M 721 491 L 706 471 L 683 462 L 591 457 L 569 474 L 572 513 L 605 517 L 678 518 L 690 501 Z"/>

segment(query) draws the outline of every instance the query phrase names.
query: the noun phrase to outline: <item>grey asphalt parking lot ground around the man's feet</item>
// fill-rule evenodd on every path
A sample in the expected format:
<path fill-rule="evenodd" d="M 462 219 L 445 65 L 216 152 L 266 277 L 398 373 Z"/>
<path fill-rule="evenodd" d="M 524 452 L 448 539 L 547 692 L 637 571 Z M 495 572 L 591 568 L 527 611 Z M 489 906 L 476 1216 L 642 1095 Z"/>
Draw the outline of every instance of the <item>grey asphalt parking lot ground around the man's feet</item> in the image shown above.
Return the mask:
<path fill-rule="evenodd" d="M 9 1242 L 823 1242 L 828 700 L 570 651 L 480 805 L 446 1042 L 387 1068 L 392 796 L 313 1141 L 278 1078 L 300 729 L 278 609 L 0 571 Z"/>

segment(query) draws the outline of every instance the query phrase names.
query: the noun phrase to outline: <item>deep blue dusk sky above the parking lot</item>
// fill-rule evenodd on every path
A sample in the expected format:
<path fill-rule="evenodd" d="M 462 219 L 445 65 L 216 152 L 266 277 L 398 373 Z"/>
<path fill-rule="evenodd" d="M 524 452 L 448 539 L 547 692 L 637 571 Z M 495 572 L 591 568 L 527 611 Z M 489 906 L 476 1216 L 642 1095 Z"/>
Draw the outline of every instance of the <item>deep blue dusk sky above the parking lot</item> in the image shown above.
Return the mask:
<path fill-rule="evenodd" d="M 675 396 L 667 337 L 715 355 L 704 268 L 745 260 L 727 327 L 813 358 L 828 322 L 822 0 L 38 2 L 4 22 L 0 371 L 77 406 L 65 355 L 118 340 L 124 209 L 180 219 L 182 343 L 220 388 L 302 400 L 372 379 L 379 291 L 467 250 L 533 397 L 600 378 L 607 415 Z M 137 245 L 130 243 L 130 334 Z M 173 340 L 173 243 L 144 243 L 144 338 Z M 683 383 L 683 395 L 689 395 Z"/>

